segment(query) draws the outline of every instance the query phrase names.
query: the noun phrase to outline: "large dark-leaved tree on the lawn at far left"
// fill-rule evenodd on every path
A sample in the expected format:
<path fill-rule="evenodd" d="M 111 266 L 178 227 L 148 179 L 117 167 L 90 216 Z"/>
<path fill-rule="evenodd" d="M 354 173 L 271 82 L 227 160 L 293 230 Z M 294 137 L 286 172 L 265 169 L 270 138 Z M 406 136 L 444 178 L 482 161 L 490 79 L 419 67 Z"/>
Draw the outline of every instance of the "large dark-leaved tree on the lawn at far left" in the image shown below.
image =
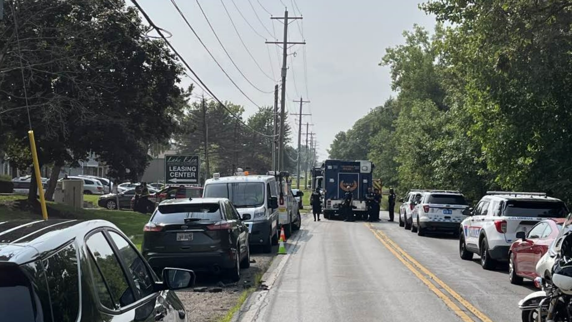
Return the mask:
<path fill-rule="evenodd" d="M 168 140 L 181 112 L 182 69 L 165 44 L 145 37 L 149 28 L 122 0 L 26 0 L 5 8 L 0 132 L 13 139 L 13 162 L 23 169 L 31 163 L 18 153 L 29 146 L 27 106 L 41 164 L 59 173 L 91 151 L 110 166 L 110 176 L 140 176 L 149 146 Z M 31 201 L 34 191 L 33 180 Z"/>

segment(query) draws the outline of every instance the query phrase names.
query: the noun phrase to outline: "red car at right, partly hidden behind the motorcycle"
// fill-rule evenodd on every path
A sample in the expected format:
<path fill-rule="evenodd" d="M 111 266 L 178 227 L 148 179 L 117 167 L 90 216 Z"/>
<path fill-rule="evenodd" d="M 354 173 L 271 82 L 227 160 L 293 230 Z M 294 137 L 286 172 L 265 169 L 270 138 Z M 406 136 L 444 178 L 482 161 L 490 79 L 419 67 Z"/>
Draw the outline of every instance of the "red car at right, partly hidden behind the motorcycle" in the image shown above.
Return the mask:
<path fill-rule="evenodd" d="M 523 278 L 534 280 L 538 277 L 536 266 L 556 239 L 565 218 L 549 218 L 537 223 L 528 233 L 517 233 L 517 239 L 509 250 L 509 280 L 520 284 Z"/>

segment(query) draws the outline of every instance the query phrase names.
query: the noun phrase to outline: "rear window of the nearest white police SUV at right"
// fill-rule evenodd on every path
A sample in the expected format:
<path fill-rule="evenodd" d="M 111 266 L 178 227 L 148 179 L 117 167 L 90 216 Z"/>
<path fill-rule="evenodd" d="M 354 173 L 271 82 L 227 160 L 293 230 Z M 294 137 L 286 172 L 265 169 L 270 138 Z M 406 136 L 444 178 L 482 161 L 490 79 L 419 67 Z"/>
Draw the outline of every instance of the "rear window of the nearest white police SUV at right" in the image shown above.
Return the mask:
<path fill-rule="evenodd" d="M 507 217 L 564 218 L 567 213 L 563 202 L 509 200 L 505 205 Z"/>

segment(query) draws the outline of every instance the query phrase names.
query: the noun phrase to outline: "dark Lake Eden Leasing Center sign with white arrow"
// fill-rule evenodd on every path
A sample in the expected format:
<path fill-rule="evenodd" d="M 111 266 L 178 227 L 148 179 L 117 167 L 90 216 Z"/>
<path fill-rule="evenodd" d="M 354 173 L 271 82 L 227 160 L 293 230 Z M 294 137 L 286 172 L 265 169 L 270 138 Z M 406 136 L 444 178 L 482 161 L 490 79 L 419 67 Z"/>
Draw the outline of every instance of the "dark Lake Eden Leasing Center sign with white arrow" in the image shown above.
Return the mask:
<path fill-rule="evenodd" d="M 200 184 L 198 155 L 165 155 L 165 184 Z"/>

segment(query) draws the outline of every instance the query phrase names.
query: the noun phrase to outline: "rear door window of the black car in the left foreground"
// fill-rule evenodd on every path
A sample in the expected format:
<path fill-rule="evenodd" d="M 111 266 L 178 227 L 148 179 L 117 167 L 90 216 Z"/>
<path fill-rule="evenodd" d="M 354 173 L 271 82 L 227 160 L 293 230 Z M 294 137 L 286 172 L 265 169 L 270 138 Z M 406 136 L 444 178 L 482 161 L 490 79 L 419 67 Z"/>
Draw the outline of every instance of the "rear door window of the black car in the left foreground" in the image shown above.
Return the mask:
<path fill-rule="evenodd" d="M 96 268 L 93 270 L 101 272 L 104 283 L 112 296 L 113 303 L 115 303 L 114 308 L 125 307 L 133 303 L 135 301 L 133 291 L 121 269 L 116 254 L 113 253 L 113 249 L 107 239 L 105 239 L 104 234 L 100 232 L 91 235 L 86 244 L 96 262 Z"/>

